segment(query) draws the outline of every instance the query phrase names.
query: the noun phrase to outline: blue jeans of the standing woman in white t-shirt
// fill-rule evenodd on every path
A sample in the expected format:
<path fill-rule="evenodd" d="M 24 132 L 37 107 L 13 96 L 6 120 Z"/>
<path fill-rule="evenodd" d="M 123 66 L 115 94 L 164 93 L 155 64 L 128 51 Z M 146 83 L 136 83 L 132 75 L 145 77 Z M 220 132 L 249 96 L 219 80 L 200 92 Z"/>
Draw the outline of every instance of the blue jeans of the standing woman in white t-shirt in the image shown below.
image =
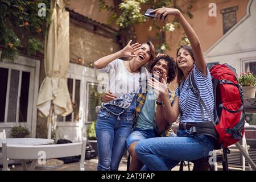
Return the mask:
<path fill-rule="evenodd" d="M 108 110 L 101 107 L 96 122 L 98 144 L 98 170 L 117 171 L 125 151 L 126 138 L 131 132 L 135 117 L 135 99 L 122 114 L 122 108 L 108 105 Z M 115 113 L 115 114 L 113 114 Z"/>

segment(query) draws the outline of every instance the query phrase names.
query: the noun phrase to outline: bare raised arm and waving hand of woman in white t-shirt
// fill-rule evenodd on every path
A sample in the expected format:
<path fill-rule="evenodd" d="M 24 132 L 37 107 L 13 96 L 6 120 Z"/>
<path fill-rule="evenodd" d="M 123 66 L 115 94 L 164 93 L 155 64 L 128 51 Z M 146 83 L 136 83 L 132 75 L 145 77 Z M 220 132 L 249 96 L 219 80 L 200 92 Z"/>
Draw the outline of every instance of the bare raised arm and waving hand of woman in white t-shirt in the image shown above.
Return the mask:
<path fill-rule="evenodd" d="M 125 48 L 123 48 L 121 51 L 115 52 L 108 56 L 101 57 L 100 59 L 98 59 L 97 61 L 95 61 L 93 63 L 94 68 L 95 69 L 104 68 L 104 67 L 106 67 L 106 65 L 108 65 L 115 59 L 118 59 L 119 57 L 136 57 L 136 55 L 134 55 L 133 53 L 135 51 L 137 51 L 139 49 L 139 47 L 141 47 L 141 44 L 139 44 L 139 43 L 135 43 L 132 45 L 130 45 L 130 44 L 131 44 L 131 40 L 127 44 L 127 46 Z"/>

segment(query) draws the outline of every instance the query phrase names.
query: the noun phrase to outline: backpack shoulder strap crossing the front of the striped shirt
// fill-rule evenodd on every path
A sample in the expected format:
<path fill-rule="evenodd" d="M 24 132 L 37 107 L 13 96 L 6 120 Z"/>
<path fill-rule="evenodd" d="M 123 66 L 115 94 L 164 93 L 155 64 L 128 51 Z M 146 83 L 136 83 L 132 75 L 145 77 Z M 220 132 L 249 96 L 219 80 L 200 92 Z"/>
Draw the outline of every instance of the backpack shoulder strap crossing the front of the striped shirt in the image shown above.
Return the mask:
<path fill-rule="evenodd" d="M 203 119 L 205 118 L 204 110 L 203 110 L 203 107 L 204 107 L 205 111 L 207 111 L 207 114 L 209 115 L 210 119 L 212 120 L 213 125 L 216 126 L 214 119 L 213 119 L 212 115 L 210 114 L 210 111 L 208 110 L 207 106 L 205 105 L 203 99 L 200 96 L 200 92 L 199 92 L 199 89 L 197 88 L 193 71 L 191 73 L 189 73 L 189 75 L 188 75 L 188 84 L 189 84 L 189 88 L 191 88 L 192 92 L 198 98 L 199 107 L 200 107 Z"/>

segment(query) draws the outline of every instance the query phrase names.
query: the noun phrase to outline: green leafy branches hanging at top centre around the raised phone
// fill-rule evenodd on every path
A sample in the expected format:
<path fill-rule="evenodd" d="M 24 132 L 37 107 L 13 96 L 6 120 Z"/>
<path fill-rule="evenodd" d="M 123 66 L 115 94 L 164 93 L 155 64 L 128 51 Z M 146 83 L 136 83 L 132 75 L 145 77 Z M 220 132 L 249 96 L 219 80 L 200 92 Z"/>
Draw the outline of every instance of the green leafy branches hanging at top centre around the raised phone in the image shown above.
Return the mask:
<path fill-rule="evenodd" d="M 187 0 L 185 3 L 180 3 L 177 0 L 113 0 L 114 6 L 109 6 L 105 0 L 98 0 L 100 10 L 112 11 L 112 16 L 110 18 L 110 23 L 115 21 L 120 29 L 120 37 L 123 46 L 130 40 L 136 40 L 136 34 L 134 29 L 134 24 L 146 22 L 146 17 L 143 15 L 142 7 L 148 7 L 150 9 L 156 9 L 159 7 L 174 7 L 179 9 L 181 13 L 188 15 L 189 18 L 193 18 L 191 14 L 192 1 Z M 158 24 L 153 23 L 148 30 L 152 30 L 152 27 L 156 28 L 156 38 L 160 39 L 165 31 L 174 31 L 175 28 L 180 28 L 180 24 L 177 19 L 172 22 L 167 23 L 165 26 L 158 26 Z M 185 37 L 182 42 L 189 44 L 188 39 Z M 162 51 L 168 48 L 164 39 L 159 45 L 155 45 L 157 49 L 162 49 Z"/>

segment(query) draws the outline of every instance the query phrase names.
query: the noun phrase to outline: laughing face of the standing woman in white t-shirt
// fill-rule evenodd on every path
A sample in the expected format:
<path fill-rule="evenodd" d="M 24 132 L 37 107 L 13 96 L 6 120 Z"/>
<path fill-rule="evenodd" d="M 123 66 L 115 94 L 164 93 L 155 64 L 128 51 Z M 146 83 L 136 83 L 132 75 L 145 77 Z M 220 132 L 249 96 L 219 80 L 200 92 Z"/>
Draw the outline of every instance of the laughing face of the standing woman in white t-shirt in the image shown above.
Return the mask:
<path fill-rule="evenodd" d="M 135 52 L 137 57 L 135 59 L 142 65 L 148 63 L 152 56 L 150 46 L 148 44 L 142 44 L 142 46 Z"/>

